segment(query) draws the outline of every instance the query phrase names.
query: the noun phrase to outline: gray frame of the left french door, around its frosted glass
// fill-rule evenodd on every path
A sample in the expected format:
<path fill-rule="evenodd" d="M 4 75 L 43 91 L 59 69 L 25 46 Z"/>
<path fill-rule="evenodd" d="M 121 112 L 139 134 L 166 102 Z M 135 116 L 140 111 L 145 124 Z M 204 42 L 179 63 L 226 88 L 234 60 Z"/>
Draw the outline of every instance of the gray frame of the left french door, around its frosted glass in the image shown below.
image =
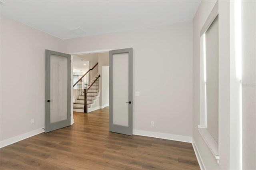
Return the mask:
<path fill-rule="evenodd" d="M 61 57 L 67 57 L 67 120 L 56 122 L 56 123 L 50 123 L 50 102 L 47 102 L 47 100 L 50 99 L 50 55 L 58 55 Z M 48 63 L 48 64 L 47 64 Z M 71 117 L 71 89 L 69 88 L 71 86 L 71 55 L 66 53 L 60 53 L 57 51 L 51 51 L 46 49 L 45 50 L 45 132 L 50 132 L 52 130 L 56 130 L 62 127 L 70 126 L 70 117 Z M 69 81 L 70 80 L 70 81 Z M 70 96 L 70 97 L 69 97 Z M 66 121 L 66 122 L 65 122 Z"/>

